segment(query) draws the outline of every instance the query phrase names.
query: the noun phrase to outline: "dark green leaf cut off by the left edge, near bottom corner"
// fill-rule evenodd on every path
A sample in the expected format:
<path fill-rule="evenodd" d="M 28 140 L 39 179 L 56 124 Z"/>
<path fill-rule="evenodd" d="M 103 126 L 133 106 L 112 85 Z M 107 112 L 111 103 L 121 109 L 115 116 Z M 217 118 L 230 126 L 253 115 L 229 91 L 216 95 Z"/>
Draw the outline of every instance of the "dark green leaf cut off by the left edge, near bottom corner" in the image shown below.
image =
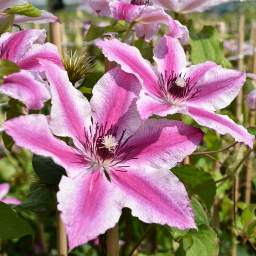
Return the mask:
<path fill-rule="evenodd" d="M 35 239 L 34 230 L 17 211 L 0 202 L 0 240 L 16 239 L 26 235 L 31 235 L 33 240 Z"/>

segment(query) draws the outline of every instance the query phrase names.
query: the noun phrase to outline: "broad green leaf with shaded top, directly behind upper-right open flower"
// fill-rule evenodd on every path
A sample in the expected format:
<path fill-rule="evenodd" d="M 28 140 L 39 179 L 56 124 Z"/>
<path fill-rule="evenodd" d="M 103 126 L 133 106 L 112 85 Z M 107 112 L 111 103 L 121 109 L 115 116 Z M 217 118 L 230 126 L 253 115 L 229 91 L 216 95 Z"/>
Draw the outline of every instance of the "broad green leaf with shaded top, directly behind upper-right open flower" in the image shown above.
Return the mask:
<path fill-rule="evenodd" d="M 188 27 L 191 45 L 192 64 L 204 63 L 205 61 L 214 61 L 221 64 L 224 58 L 224 47 L 220 41 L 218 31 L 212 26 L 204 28 L 195 33 L 192 26 Z"/>

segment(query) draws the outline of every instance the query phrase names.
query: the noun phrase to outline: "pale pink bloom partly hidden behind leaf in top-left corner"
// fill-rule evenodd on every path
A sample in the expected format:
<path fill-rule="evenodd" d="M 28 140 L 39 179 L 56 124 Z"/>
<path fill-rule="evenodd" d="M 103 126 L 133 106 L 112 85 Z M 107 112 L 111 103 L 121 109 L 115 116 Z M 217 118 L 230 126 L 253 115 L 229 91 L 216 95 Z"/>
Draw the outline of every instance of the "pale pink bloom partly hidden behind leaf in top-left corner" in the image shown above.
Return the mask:
<path fill-rule="evenodd" d="M 28 3 L 28 0 L 1 0 L 0 1 L 0 13 L 2 13 L 7 8 L 12 8 L 14 5 L 23 5 Z M 0 15 L 0 22 L 5 19 L 7 16 Z M 54 16 L 52 13 L 42 10 L 40 17 L 27 17 L 24 15 L 15 15 L 14 24 L 22 23 L 22 22 L 33 22 L 35 24 L 43 24 L 50 22 L 60 22 L 58 17 Z"/>

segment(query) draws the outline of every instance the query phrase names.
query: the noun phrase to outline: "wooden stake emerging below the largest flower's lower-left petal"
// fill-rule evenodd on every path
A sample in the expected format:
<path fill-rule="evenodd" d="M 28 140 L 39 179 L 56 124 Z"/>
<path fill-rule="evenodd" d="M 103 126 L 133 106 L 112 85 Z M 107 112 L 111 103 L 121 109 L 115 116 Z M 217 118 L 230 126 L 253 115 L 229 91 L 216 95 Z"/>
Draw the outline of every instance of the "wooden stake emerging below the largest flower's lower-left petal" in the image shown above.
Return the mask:
<path fill-rule="evenodd" d="M 65 233 L 64 223 L 61 220 L 61 212 L 58 210 L 56 210 L 56 222 L 58 256 L 67 256 L 67 236 Z"/>

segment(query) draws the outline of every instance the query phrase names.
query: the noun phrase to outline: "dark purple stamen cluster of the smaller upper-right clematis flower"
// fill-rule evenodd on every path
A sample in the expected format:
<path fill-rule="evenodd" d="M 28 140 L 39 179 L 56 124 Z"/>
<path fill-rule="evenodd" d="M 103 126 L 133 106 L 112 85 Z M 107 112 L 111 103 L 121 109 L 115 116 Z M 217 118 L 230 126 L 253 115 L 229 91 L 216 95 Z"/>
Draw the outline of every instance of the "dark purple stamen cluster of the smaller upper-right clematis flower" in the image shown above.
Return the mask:
<path fill-rule="evenodd" d="M 167 76 L 167 70 L 165 75 L 163 74 L 158 76 L 158 85 L 160 89 L 163 91 L 166 99 L 172 105 L 179 105 L 181 102 L 184 102 L 189 99 L 193 99 L 197 93 L 201 92 L 201 90 L 196 90 L 194 93 L 191 93 L 191 90 L 195 87 L 196 83 L 190 87 L 190 77 L 186 78 L 186 74 L 182 76 L 176 76 L 174 71 L 170 76 Z"/>

